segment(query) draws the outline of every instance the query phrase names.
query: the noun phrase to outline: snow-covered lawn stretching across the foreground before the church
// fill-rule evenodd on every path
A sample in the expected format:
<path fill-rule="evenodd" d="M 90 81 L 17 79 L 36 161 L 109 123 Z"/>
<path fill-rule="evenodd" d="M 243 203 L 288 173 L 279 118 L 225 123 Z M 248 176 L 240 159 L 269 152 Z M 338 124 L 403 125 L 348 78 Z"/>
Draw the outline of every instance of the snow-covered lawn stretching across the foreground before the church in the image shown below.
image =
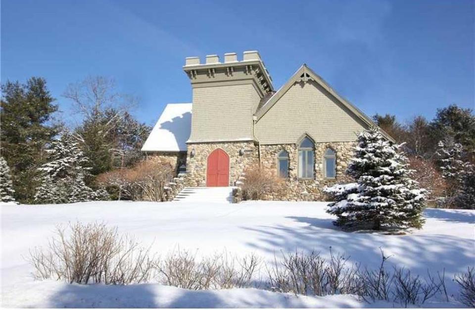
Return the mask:
<path fill-rule="evenodd" d="M 380 248 L 396 264 L 426 275 L 445 268 L 449 293 L 454 273 L 475 264 L 475 211 L 427 209 L 422 230 L 410 235 L 342 232 L 332 225 L 325 203 L 244 202 L 241 204 L 93 202 L 71 205 L 1 206 L 1 300 L 3 307 L 392 307 L 367 305 L 352 296 L 295 297 L 257 289 L 188 291 L 158 284 L 68 285 L 36 281 L 25 261 L 29 248 L 47 244 L 54 227 L 68 221 L 104 221 L 136 236 L 152 252 L 179 246 L 199 254 L 253 252 L 265 260 L 280 251 L 349 255 L 369 267 L 380 263 Z M 263 271 L 264 272 L 264 271 Z M 431 303 L 430 307 L 458 306 Z"/>

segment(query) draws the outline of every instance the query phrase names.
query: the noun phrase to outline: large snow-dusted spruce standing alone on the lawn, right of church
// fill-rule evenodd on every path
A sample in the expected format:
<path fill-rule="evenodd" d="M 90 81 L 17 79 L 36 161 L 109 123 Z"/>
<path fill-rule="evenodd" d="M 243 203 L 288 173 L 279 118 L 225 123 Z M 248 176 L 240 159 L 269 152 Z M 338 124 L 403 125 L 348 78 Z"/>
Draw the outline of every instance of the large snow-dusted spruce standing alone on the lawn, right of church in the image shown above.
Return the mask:
<path fill-rule="evenodd" d="M 410 177 L 401 145 L 382 137 L 377 128 L 358 136 L 355 156 L 346 173 L 356 182 L 325 188 L 334 202 L 327 211 L 346 228 L 420 228 L 427 191 Z"/>

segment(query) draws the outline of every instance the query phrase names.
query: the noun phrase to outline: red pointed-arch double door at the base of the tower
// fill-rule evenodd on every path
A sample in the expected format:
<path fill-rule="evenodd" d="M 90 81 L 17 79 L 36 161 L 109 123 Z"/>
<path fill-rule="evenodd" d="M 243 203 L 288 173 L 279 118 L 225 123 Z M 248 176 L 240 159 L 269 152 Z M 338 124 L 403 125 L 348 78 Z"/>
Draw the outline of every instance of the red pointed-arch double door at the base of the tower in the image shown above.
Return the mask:
<path fill-rule="evenodd" d="M 229 156 L 221 149 L 208 156 L 206 186 L 229 186 Z"/>

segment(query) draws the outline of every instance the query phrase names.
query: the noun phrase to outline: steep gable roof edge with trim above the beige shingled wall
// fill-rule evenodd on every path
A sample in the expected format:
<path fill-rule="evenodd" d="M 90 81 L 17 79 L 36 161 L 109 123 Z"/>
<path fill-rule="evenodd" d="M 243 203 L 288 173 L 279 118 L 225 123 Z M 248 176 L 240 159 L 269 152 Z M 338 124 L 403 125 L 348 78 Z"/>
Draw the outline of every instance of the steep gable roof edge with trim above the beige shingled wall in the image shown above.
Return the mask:
<path fill-rule="evenodd" d="M 332 97 L 334 97 L 338 102 L 343 104 L 348 110 L 353 113 L 356 117 L 361 119 L 363 123 L 368 125 L 369 127 L 378 127 L 378 125 L 370 118 L 368 117 L 365 113 L 363 113 L 360 109 L 358 109 L 356 106 L 354 106 L 352 103 L 344 99 L 342 96 L 340 96 L 337 92 L 335 92 L 330 85 L 325 82 L 324 79 L 322 79 L 318 74 L 312 71 L 306 64 L 303 64 L 297 72 L 295 72 L 292 77 L 272 96 L 268 99 L 267 102 L 264 104 L 260 104 L 260 108 L 256 111 L 254 114 L 259 120 L 262 116 L 264 116 L 267 111 L 269 111 L 274 104 L 276 104 L 279 99 L 284 96 L 284 94 L 292 87 L 295 83 L 300 83 L 300 82 L 307 82 L 308 80 L 315 81 L 318 85 L 320 85 L 323 89 L 325 89 Z M 394 139 L 389 136 L 386 132 L 384 132 L 382 129 L 380 129 L 381 134 L 387 138 L 390 141 L 394 142 Z"/>

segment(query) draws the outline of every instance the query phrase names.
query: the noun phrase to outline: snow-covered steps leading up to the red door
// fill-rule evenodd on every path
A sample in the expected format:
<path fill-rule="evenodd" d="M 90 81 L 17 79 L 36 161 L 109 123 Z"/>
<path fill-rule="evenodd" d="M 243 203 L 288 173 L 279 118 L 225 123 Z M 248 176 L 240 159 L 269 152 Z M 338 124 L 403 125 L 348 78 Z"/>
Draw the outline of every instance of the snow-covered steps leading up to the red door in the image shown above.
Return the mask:
<path fill-rule="evenodd" d="M 233 187 L 185 187 L 173 201 L 231 204 L 233 202 L 232 193 Z"/>

